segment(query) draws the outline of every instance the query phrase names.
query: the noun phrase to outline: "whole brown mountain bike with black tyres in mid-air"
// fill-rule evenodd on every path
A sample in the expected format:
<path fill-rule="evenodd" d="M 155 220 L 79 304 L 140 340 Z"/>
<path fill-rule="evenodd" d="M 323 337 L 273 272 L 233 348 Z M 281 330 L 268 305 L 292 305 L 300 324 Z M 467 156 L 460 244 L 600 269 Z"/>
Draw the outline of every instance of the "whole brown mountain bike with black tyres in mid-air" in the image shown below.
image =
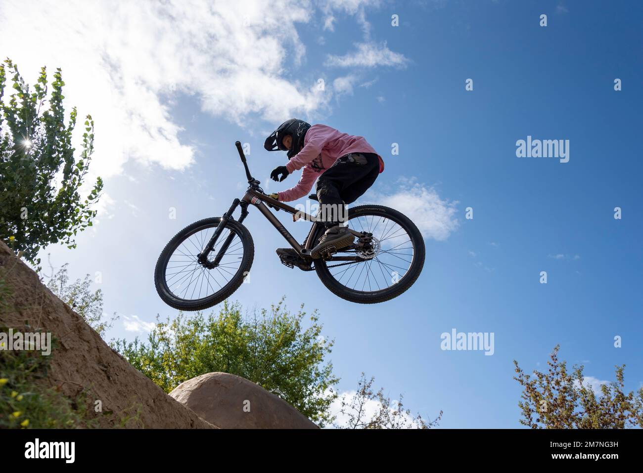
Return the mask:
<path fill-rule="evenodd" d="M 156 262 L 154 283 L 167 305 L 179 310 L 203 310 L 221 303 L 248 278 L 255 245 L 242 222 L 253 206 L 266 217 L 297 253 L 280 256 L 290 268 L 316 271 L 331 292 L 347 301 L 372 304 L 393 299 L 409 289 L 424 265 L 424 240 L 405 215 L 381 205 L 349 208 L 343 225 L 354 235 L 353 244 L 330 247 L 313 259 L 311 249 L 325 231 L 316 215 L 271 199 L 248 169 L 241 143 L 235 143 L 246 170 L 248 189 L 234 199 L 222 217 L 210 217 L 186 226 L 168 242 Z M 311 195 L 316 200 L 316 195 Z M 240 208 L 239 218 L 233 213 Z M 312 222 L 302 244 L 275 217 L 285 210 L 293 221 Z"/>

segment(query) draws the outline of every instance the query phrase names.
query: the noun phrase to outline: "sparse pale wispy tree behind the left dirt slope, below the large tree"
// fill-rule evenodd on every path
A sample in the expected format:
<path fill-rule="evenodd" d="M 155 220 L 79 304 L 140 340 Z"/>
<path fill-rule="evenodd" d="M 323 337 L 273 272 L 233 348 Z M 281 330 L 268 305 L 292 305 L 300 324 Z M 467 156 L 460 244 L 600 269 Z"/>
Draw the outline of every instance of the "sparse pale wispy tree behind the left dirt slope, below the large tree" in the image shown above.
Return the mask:
<path fill-rule="evenodd" d="M 77 279 L 75 282 L 69 283 L 67 266 L 68 263 L 65 263 L 58 272 L 51 276 L 47 282 L 47 287 L 61 301 L 73 308 L 79 316 L 85 319 L 87 325 L 96 330 L 98 335 L 104 337 L 105 332 L 111 328 L 114 320 L 118 318 L 116 313 L 111 319 L 105 316 L 103 312 L 103 292 L 100 289 L 92 292 L 89 274 L 82 281 Z"/>

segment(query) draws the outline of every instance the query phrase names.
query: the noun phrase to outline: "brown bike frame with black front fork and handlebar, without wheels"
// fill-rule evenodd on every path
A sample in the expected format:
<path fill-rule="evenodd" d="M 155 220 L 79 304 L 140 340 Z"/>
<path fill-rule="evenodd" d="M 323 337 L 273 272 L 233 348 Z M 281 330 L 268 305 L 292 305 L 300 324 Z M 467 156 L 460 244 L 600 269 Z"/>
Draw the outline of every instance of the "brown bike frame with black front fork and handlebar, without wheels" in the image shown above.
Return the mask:
<path fill-rule="evenodd" d="M 241 143 L 237 141 L 235 145 L 237 146 L 237 150 L 239 151 L 241 162 L 243 163 L 244 168 L 246 169 L 246 177 L 248 177 L 248 184 L 250 185 L 248 186 L 248 190 L 246 190 L 246 193 L 244 194 L 244 196 L 241 199 L 235 199 L 232 202 L 230 209 L 228 209 L 228 211 L 223 214 L 223 216 L 221 217 L 221 223 L 219 224 L 219 226 L 217 226 L 217 229 L 212 235 L 212 238 L 210 238 L 210 240 L 205 245 L 201 253 L 197 255 L 198 262 L 201 263 L 201 265 L 203 265 L 204 267 L 208 267 L 208 268 L 216 267 L 219 264 L 219 262 L 221 262 L 221 258 L 223 258 L 223 255 L 228 250 L 228 247 L 230 246 L 230 243 L 234 238 L 234 234 L 232 233 L 232 231 L 230 231 L 230 234 L 226 238 L 225 242 L 217 252 L 217 255 L 215 256 L 214 260 L 212 260 L 212 262 L 208 261 L 208 254 L 210 254 L 210 251 L 212 251 L 215 242 L 221 236 L 221 233 L 226 226 L 226 222 L 228 222 L 228 220 L 230 219 L 234 220 L 234 217 L 232 215 L 234 211 L 237 210 L 237 207 L 238 206 L 241 207 L 241 215 L 239 217 L 239 220 L 237 220 L 237 222 L 242 223 L 248 216 L 249 205 L 257 207 L 258 210 L 262 213 L 262 215 L 266 217 L 266 219 L 273 225 L 273 227 L 276 228 L 276 230 L 282 235 L 282 237 L 285 238 L 288 244 L 291 245 L 291 247 L 293 247 L 294 250 L 298 254 L 300 254 L 300 256 L 302 256 L 302 258 L 304 258 L 305 260 L 312 261 L 310 253 L 311 253 L 311 249 L 314 247 L 314 236 L 317 233 L 317 226 L 319 225 L 317 219 L 312 215 L 305 213 L 302 210 L 297 210 L 294 207 L 284 204 L 284 202 L 279 202 L 276 199 L 271 199 L 271 197 L 267 196 L 263 192 L 260 192 L 260 187 L 259 187 L 260 183 L 259 181 L 257 181 L 257 179 L 254 179 L 250 175 L 248 164 L 246 163 L 246 156 L 244 156 L 243 149 L 241 148 Z M 282 209 L 287 213 L 293 214 L 293 221 L 298 219 L 303 219 L 309 222 L 313 222 L 311 231 L 308 234 L 308 238 L 306 239 L 306 242 L 303 248 L 302 248 L 302 245 L 300 245 L 297 242 L 297 240 L 294 239 L 293 235 L 291 235 L 291 233 L 282 225 L 279 219 L 277 219 L 275 215 L 268 209 L 268 206 L 273 207 L 276 210 Z M 298 216 L 298 219 L 295 218 L 295 215 Z M 358 238 L 367 236 L 366 233 L 361 233 L 358 231 L 354 231 L 352 229 L 349 229 L 349 231 L 350 233 L 352 233 Z M 352 262 L 365 261 L 363 260 L 363 258 L 360 258 L 359 256 L 331 256 L 329 260 L 352 261 Z"/>

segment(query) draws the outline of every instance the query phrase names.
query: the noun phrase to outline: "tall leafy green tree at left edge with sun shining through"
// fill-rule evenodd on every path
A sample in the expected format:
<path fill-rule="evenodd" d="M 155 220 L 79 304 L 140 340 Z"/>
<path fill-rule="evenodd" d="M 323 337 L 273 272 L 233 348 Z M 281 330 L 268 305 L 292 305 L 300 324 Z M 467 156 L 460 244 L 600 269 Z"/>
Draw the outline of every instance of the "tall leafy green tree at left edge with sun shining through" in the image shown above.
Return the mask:
<path fill-rule="evenodd" d="M 8 73 L 15 92 L 5 103 Z M 14 251 L 23 251 L 37 270 L 42 247 L 58 242 L 76 247 L 77 232 L 92 225 L 96 216 L 92 204 L 103 187 L 98 177 L 81 200 L 78 189 L 94 151 L 94 121 L 87 115 L 77 161 L 71 145 L 77 111 L 73 108 L 65 125 L 60 69 L 53 79 L 48 98 L 45 67 L 32 92 L 10 59 L 0 64 L 0 237 Z"/>

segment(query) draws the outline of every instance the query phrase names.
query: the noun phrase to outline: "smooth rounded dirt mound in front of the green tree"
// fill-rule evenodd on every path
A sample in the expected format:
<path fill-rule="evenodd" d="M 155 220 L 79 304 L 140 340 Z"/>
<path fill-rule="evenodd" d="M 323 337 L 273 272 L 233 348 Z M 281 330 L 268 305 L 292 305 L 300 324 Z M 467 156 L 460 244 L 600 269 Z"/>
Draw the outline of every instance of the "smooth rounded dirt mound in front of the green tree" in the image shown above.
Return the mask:
<path fill-rule="evenodd" d="M 230 373 L 206 373 L 170 393 L 199 417 L 222 429 L 316 429 L 282 398 Z"/>

